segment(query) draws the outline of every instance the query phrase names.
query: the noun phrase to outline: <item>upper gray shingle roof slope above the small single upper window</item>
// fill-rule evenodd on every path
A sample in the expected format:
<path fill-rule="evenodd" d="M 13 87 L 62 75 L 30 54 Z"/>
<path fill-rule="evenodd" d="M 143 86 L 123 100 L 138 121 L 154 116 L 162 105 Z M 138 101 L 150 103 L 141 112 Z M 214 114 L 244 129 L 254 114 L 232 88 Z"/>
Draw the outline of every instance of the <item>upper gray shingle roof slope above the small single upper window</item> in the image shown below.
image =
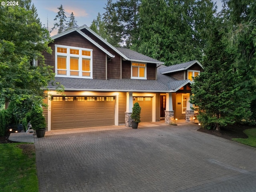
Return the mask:
<path fill-rule="evenodd" d="M 130 60 L 135 60 L 135 61 L 142 61 L 142 62 L 153 62 L 153 63 L 161 63 L 164 64 L 164 62 L 158 61 L 156 59 L 153 59 L 151 57 L 148 57 L 146 55 L 140 54 L 136 51 L 127 49 L 127 48 L 120 48 L 120 47 L 116 47 L 116 49 L 118 51 L 120 51 L 122 54 L 124 54 L 126 57 L 130 58 Z"/>

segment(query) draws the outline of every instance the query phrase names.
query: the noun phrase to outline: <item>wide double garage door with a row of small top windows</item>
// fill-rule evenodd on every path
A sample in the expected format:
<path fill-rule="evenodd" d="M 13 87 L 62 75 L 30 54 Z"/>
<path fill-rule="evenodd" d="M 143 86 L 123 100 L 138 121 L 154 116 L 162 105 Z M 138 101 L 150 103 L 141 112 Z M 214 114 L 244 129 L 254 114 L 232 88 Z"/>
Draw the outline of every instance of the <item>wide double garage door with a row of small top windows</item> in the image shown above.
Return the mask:
<path fill-rule="evenodd" d="M 54 96 L 51 129 L 71 129 L 114 125 L 114 97 Z"/>

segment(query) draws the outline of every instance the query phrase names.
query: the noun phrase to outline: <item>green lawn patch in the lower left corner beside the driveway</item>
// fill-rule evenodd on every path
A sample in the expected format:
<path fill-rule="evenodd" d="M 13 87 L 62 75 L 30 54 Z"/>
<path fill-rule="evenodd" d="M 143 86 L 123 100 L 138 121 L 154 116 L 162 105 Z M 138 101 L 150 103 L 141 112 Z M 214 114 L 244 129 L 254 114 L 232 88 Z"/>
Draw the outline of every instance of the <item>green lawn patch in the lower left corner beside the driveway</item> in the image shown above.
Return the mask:
<path fill-rule="evenodd" d="M 24 154 L 20 144 L 0 144 L 1 192 L 38 192 L 36 154 L 34 150 Z"/>

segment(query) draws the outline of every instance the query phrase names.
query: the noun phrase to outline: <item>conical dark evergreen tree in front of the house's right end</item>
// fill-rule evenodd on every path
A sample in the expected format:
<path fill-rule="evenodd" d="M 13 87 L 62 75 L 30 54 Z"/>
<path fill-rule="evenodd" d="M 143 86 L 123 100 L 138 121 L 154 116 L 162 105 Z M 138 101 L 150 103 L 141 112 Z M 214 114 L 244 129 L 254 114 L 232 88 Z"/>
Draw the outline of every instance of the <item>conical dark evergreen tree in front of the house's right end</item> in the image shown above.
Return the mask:
<path fill-rule="evenodd" d="M 228 51 L 226 24 L 216 21 L 208 31 L 204 49 L 204 72 L 194 78 L 191 102 L 199 107 L 198 120 L 203 128 L 234 124 L 250 117 L 250 90 L 243 84 L 243 74 L 234 70 L 234 52 Z"/>

